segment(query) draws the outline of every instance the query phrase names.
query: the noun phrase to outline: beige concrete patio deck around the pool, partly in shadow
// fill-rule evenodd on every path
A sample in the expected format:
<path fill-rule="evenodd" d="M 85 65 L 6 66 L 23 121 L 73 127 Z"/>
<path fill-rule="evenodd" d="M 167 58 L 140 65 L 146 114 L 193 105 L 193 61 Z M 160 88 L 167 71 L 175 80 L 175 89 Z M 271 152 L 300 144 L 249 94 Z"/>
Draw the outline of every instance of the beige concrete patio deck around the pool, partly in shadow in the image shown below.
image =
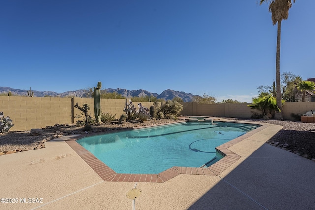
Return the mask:
<path fill-rule="evenodd" d="M 2 155 L 0 198 L 10 203 L 0 209 L 314 209 L 315 163 L 265 144 L 282 127 L 264 125 L 228 148 L 241 158 L 221 174 L 179 174 L 164 183 L 104 181 L 65 142 L 73 136 Z M 142 194 L 127 198 L 133 188 Z"/>

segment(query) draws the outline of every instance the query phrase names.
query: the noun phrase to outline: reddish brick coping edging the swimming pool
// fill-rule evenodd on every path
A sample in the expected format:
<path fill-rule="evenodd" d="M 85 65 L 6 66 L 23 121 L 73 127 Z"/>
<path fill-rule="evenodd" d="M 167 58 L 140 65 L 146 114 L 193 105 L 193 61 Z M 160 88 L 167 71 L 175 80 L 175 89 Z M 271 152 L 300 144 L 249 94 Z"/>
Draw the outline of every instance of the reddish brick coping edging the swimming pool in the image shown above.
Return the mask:
<path fill-rule="evenodd" d="M 183 123 L 183 122 L 180 122 Z M 236 122 L 236 123 L 248 123 L 248 122 Z M 250 123 L 250 124 L 258 124 L 259 123 Z M 150 126 L 144 126 L 150 127 Z M 141 127 L 141 128 L 144 128 Z M 76 140 L 84 138 L 86 136 L 91 135 L 102 135 L 109 132 L 97 133 L 97 134 L 90 134 L 90 135 L 83 135 L 79 137 L 74 137 L 65 140 L 65 142 L 95 171 L 98 176 L 100 176 L 104 181 L 111 181 L 111 182 L 156 182 L 156 183 L 163 183 L 166 182 L 179 174 L 190 174 L 190 175 L 208 175 L 208 176 L 217 176 L 220 175 L 224 170 L 234 164 L 237 160 L 241 158 L 238 154 L 230 151 L 228 148 L 241 142 L 242 140 L 252 136 L 255 133 L 260 132 L 261 130 L 265 129 L 266 125 L 261 125 L 260 127 L 252 130 L 240 137 L 237 137 L 229 142 L 226 142 L 218 147 L 216 147 L 217 152 L 221 153 L 224 157 L 217 161 L 216 163 L 212 164 L 209 167 L 178 167 L 173 166 L 159 174 L 121 174 L 116 173 L 102 161 L 97 159 L 92 153 L 82 147 Z M 133 128 L 139 129 L 139 128 Z M 131 129 L 124 129 L 131 130 Z M 119 130 L 122 131 L 122 130 Z M 112 132 L 119 132 L 119 131 L 112 131 Z"/>

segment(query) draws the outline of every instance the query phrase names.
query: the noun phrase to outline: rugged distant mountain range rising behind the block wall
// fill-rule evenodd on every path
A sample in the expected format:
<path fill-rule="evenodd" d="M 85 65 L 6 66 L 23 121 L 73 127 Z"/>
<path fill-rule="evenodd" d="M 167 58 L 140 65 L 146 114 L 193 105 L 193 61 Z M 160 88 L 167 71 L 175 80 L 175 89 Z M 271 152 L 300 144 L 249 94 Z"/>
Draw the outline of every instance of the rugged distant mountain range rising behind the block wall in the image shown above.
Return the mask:
<path fill-rule="evenodd" d="M 11 92 L 12 95 L 28 95 L 27 94 L 28 90 L 22 90 L 22 89 L 14 89 L 14 88 L 10 88 L 10 87 L 0 87 L 0 94 L 2 93 L 6 93 L 8 94 L 8 92 Z M 63 92 L 63 93 L 57 93 L 57 92 L 53 92 L 53 91 L 37 91 L 37 90 L 32 90 L 34 92 L 34 97 L 47 97 L 47 96 L 51 96 L 51 97 L 86 97 L 87 96 L 87 90 L 84 89 L 80 89 L 80 90 L 75 90 L 75 91 L 67 91 L 67 92 Z M 179 97 L 181 98 L 184 102 L 191 102 L 193 97 L 195 95 L 191 94 L 191 93 L 185 93 L 185 92 L 180 92 L 180 91 L 175 91 L 175 90 L 164 90 L 161 94 L 157 94 L 157 93 L 151 93 L 147 90 L 126 90 L 126 89 L 121 89 L 121 88 L 117 88 L 117 89 L 113 89 L 113 88 L 107 88 L 105 89 L 106 92 L 108 93 L 117 93 L 122 95 L 123 97 L 126 98 L 131 98 L 131 97 L 144 97 L 144 96 L 153 96 L 156 97 L 158 99 L 165 99 L 165 100 L 172 100 L 175 97 Z"/>

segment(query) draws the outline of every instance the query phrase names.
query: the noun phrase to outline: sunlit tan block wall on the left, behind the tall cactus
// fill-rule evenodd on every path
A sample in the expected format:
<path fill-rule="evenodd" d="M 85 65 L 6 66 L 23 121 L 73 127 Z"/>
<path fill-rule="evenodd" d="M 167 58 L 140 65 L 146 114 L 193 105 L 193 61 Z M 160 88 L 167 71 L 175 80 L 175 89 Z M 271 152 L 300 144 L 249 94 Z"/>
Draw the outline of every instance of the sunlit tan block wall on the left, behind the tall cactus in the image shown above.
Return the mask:
<path fill-rule="evenodd" d="M 101 99 L 101 112 L 108 112 L 119 119 L 124 114 L 126 101 L 129 99 Z M 14 126 L 10 131 L 23 131 L 84 120 L 84 114 L 74 107 L 76 103 L 80 107 L 89 104 L 88 113 L 95 118 L 93 98 L 0 96 L 0 111 L 13 120 Z M 153 102 L 141 103 L 147 108 L 153 105 Z M 138 110 L 138 102 L 135 102 L 135 106 Z"/>

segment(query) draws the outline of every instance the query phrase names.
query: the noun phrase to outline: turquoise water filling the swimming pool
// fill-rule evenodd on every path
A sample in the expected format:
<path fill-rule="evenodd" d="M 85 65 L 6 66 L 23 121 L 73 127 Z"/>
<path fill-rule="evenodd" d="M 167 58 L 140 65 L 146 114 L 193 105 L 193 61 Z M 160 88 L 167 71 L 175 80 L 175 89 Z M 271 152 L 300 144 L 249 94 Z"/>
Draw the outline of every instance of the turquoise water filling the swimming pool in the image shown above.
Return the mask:
<path fill-rule="evenodd" d="M 201 167 L 222 158 L 215 147 L 258 125 L 186 122 L 77 140 L 116 173 L 158 174 L 173 166 Z"/>

